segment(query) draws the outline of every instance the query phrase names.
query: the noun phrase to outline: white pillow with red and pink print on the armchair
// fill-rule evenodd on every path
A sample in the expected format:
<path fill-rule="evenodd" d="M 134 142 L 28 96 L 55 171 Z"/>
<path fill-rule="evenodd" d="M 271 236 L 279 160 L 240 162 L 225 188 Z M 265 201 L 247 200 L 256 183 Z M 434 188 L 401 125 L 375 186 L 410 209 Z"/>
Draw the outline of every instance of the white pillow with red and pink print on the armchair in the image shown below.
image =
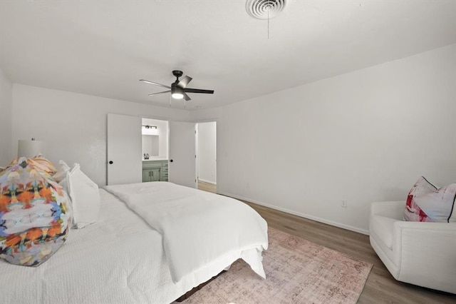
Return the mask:
<path fill-rule="evenodd" d="M 456 183 L 437 188 L 423 176 L 408 193 L 404 220 L 415 222 L 450 222 L 455 205 Z"/>

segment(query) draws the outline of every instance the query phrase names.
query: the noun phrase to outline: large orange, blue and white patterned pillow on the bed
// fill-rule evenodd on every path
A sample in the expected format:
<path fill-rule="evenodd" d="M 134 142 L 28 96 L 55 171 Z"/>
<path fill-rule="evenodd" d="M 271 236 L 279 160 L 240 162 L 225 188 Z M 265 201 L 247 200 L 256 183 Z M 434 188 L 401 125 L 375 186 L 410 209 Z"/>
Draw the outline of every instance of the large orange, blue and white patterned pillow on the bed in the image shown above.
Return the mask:
<path fill-rule="evenodd" d="M 44 160 L 22 157 L 0 172 L 0 258 L 12 264 L 40 265 L 71 227 L 68 195 Z"/>

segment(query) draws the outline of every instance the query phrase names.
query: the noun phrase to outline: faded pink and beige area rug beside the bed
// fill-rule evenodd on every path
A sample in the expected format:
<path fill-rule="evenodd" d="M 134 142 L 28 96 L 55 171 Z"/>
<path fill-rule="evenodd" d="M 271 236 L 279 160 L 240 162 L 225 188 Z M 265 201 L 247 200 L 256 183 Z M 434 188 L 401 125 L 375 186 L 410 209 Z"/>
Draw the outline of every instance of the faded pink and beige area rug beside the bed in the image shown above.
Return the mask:
<path fill-rule="evenodd" d="M 266 280 L 237 260 L 182 303 L 356 303 L 372 264 L 269 228 Z"/>

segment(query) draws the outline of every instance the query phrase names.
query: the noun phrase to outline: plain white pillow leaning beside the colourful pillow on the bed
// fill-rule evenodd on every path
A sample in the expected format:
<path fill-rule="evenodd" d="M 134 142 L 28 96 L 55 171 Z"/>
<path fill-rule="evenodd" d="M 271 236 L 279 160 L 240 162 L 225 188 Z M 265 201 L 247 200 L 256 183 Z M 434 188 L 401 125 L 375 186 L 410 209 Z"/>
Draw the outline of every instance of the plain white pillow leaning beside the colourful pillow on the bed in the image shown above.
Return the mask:
<path fill-rule="evenodd" d="M 95 223 L 100 213 L 100 193 L 97 184 L 81 171 L 81 166 L 75 163 L 59 184 L 71 198 L 73 228 L 80 229 Z"/>

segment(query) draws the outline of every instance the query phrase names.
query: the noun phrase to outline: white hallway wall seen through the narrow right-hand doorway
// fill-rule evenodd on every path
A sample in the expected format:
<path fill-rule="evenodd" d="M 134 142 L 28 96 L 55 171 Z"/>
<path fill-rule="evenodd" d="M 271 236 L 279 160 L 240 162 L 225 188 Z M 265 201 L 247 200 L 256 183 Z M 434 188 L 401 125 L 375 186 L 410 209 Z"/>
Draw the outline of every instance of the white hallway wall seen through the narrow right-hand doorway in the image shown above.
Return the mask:
<path fill-rule="evenodd" d="M 198 123 L 198 178 L 216 183 L 216 123 Z"/>

